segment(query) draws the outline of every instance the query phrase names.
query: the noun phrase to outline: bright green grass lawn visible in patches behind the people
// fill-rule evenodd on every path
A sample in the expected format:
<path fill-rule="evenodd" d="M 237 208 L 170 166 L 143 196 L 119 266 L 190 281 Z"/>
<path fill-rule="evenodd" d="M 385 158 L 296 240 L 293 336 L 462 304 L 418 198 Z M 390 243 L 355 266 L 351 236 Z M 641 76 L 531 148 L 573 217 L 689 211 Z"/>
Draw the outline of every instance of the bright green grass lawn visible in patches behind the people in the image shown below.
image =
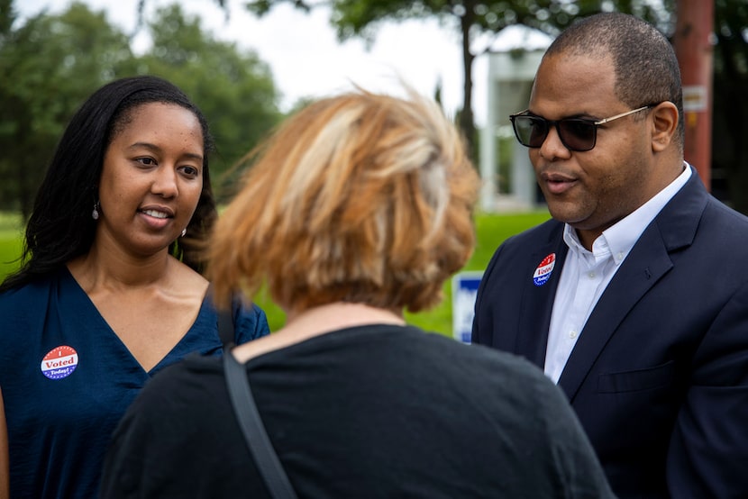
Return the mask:
<path fill-rule="evenodd" d="M 550 218 L 547 211 L 532 213 L 501 213 L 476 216 L 478 242 L 472 258 L 463 270 L 483 270 L 497 246 L 518 232 L 524 231 Z M 0 279 L 12 272 L 18 265 L 22 248 L 23 227 L 19 215 L 0 213 Z M 270 331 L 276 331 L 286 320 L 283 311 L 273 304 L 265 293 L 255 297 L 255 302 L 268 314 Z M 426 331 L 434 331 L 452 336 L 452 282 L 444 284 L 444 300 L 432 310 L 422 313 L 407 313 L 407 322 Z"/>

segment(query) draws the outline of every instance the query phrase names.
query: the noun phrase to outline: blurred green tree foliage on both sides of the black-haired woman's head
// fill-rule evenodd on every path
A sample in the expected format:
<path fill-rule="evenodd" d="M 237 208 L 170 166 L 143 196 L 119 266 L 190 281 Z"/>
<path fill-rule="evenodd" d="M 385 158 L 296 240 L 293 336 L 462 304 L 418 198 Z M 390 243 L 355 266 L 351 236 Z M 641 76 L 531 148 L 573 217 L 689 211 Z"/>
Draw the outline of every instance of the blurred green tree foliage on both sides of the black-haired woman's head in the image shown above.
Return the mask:
<path fill-rule="evenodd" d="M 159 75 L 190 95 L 214 132 L 214 178 L 280 118 L 267 64 L 254 52 L 215 41 L 178 6 L 161 9 L 151 21 L 153 44 L 141 56 L 103 12 L 82 3 L 20 26 L 14 17 L 13 1 L 0 0 L 0 74 L 10 76 L 0 78 L 0 209 L 29 214 L 68 120 L 88 95 L 117 77 Z"/>

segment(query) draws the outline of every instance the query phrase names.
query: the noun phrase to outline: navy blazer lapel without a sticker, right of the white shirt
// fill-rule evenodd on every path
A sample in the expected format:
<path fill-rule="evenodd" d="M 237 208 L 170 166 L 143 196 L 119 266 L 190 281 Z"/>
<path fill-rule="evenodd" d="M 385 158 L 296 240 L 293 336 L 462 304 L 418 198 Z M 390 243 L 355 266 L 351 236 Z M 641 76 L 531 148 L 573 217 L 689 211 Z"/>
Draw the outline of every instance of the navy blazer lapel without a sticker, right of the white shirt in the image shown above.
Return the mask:
<path fill-rule="evenodd" d="M 689 246 L 707 204 L 707 191 L 696 170 L 643 231 L 618 268 L 571 350 L 559 386 L 570 400 L 588 376 L 607 341 L 643 295 L 672 268 L 670 251 Z"/>

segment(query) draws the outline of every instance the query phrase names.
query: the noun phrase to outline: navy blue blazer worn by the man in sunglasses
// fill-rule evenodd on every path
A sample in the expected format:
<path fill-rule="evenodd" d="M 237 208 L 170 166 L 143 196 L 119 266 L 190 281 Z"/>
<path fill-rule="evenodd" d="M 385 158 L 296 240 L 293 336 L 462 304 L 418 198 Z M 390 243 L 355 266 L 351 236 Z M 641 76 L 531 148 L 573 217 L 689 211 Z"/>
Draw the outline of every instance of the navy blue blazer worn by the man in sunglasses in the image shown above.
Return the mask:
<path fill-rule="evenodd" d="M 474 343 L 543 367 L 562 234 L 552 220 L 497 249 Z M 620 497 L 748 497 L 748 218 L 695 170 L 600 296 L 559 385 Z"/>

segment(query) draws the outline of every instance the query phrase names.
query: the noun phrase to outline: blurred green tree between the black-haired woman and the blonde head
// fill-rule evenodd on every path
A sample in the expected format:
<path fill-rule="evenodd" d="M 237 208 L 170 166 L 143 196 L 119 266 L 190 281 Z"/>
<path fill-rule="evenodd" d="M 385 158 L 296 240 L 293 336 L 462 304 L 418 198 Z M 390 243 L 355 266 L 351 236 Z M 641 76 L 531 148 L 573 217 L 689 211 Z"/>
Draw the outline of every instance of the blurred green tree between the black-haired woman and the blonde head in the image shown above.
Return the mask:
<path fill-rule="evenodd" d="M 228 170 L 282 117 L 269 66 L 252 50 L 214 40 L 179 5 L 160 8 L 149 26 L 153 44 L 139 71 L 167 77 L 190 95 L 216 142 L 211 170 Z"/>

